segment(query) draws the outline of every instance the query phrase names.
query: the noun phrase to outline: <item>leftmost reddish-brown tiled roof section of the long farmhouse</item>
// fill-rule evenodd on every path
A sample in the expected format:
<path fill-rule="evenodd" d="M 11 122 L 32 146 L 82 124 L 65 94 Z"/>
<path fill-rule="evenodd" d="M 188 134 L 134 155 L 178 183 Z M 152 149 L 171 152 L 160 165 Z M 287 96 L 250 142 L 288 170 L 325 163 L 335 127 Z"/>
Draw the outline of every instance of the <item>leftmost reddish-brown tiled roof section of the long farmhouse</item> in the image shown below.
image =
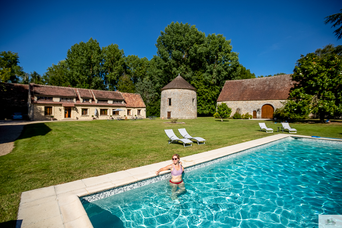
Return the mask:
<path fill-rule="evenodd" d="M 77 97 L 74 88 L 70 87 L 31 84 L 31 92 L 32 87 L 34 96 Z"/>

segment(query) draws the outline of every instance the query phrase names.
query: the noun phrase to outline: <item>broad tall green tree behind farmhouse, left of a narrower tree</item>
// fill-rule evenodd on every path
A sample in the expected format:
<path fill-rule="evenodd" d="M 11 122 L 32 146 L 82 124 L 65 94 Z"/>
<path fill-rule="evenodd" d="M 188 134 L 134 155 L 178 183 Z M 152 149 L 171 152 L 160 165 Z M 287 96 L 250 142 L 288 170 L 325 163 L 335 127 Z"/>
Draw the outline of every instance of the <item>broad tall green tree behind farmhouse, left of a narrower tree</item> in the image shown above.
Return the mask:
<path fill-rule="evenodd" d="M 102 68 L 103 54 L 99 42 L 89 39 L 76 43 L 67 51 L 66 63 L 70 70 L 70 83 L 86 89 L 105 89 Z"/>

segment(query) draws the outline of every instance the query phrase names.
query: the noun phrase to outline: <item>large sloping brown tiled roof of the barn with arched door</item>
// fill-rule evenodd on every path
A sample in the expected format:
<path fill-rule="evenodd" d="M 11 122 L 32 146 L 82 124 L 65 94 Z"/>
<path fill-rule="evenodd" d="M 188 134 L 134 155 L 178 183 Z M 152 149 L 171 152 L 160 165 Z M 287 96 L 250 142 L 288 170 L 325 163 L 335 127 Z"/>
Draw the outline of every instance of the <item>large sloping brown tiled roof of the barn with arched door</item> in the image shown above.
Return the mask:
<path fill-rule="evenodd" d="M 286 100 L 294 83 L 291 74 L 226 81 L 217 101 Z"/>

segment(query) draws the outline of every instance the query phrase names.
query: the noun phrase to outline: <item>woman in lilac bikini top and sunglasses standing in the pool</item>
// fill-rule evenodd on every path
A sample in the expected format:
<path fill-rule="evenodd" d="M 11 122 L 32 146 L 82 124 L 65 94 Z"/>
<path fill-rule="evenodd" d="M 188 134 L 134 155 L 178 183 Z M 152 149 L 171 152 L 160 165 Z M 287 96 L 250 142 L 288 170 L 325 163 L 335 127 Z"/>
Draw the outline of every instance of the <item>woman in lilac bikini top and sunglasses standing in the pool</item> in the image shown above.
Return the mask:
<path fill-rule="evenodd" d="M 186 191 L 185 185 L 182 179 L 182 173 L 184 172 L 184 167 L 182 166 L 182 162 L 179 162 L 179 159 L 180 159 L 180 156 L 178 154 L 173 154 L 172 164 L 164 168 L 161 168 L 155 172 L 156 175 L 159 175 L 161 171 L 171 169 L 172 178 L 170 180 L 170 186 L 172 187 L 172 192 L 177 195 Z M 179 187 L 179 190 L 176 191 L 177 187 Z"/>

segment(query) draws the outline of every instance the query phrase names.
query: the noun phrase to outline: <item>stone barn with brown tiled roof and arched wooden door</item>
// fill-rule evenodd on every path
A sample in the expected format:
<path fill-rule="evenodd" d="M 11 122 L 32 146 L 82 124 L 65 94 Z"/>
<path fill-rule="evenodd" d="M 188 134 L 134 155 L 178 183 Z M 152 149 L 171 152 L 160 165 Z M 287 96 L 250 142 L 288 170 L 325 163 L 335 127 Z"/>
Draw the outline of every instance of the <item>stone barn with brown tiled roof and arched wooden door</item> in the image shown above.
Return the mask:
<path fill-rule="evenodd" d="M 272 77 L 226 81 L 217 105 L 226 103 L 235 112 L 253 115 L 253 119 L 271 119 L 283 106 L 294 86 L 291 74 Z"/>

